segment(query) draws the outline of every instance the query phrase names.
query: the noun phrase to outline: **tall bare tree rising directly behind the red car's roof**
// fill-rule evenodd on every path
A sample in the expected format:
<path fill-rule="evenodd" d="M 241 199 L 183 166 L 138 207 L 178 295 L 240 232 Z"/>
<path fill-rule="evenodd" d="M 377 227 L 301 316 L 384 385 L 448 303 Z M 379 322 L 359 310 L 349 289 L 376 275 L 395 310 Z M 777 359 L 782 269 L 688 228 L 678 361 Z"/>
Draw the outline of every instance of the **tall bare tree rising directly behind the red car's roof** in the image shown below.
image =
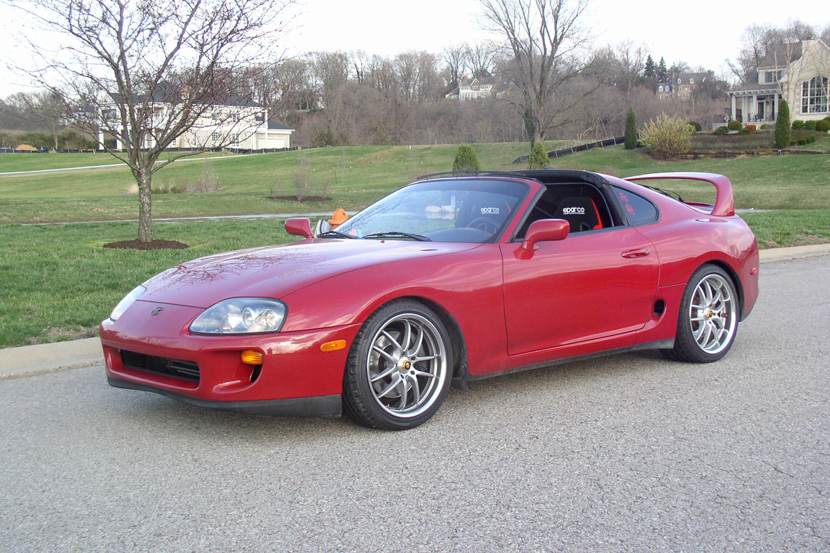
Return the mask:
<path fill-rule="evenodd" d="M 530 142 L 544 140 L 573 106 L 554 102 L 586 69 L 588 36 L 579 28 L 587 2 L 576 0 L 481 0 L 489 30 L 500 32 L 510 53 L 512 80 L 522 91 L 520 109 Z M 592 90 L 583 90 L 577 100 Z"/>

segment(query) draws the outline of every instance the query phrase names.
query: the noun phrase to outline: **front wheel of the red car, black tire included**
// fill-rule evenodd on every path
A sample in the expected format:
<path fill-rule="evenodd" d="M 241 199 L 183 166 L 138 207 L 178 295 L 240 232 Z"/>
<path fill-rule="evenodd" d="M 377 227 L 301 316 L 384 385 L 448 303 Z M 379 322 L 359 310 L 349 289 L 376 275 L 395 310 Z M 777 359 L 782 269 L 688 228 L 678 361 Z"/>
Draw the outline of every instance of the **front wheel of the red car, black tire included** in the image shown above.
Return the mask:
<path fill-rule="evenodd" d="M 432 309 L 398 299 L 360 327 L 343 376 L 343 406 L 369 428 L 403 430 L 429 420 L 447 396 L 452 347 Z"/>

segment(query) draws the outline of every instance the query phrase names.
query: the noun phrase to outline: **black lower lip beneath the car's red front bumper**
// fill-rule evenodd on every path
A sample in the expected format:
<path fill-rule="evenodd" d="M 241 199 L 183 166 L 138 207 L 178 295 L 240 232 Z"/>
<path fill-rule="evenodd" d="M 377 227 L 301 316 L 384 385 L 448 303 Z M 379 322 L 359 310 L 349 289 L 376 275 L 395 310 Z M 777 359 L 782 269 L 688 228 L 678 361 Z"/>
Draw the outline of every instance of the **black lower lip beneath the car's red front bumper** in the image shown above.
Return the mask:
<path fill-rule="evenodd" d="M 214 401 L 200 400 L 188 395 L 177 394 L 171 390 L 139 384 L 138 382 L 122 381 L 112 376 L 107 376 L 107 382 L 110 386 L 115 386 L 116 388 L 151 391 L 155 394 L 166 395 L 169 398 L 173 398 L 173 400 L 182 401 L 188 405 L 195 405 L 205 409 L 229 411 L 231 413 L 243 413 L 245 415 L 336 418 L 340 416 L 342 408 L 340 395 L 295 397 L 286 400 Z"/>

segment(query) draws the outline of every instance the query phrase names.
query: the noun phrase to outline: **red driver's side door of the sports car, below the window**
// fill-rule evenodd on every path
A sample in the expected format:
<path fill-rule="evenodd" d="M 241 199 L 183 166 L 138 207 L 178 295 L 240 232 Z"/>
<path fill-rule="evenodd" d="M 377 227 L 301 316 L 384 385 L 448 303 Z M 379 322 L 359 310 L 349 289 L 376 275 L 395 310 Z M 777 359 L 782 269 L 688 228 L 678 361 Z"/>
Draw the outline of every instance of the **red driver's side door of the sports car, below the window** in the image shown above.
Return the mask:
<path fill-rule="evenodd" d="M 631 226 L 520 246 L 501 245 L 511 356 L 626 332 L 633 343 L 652 316 L 657 252 Z"/>

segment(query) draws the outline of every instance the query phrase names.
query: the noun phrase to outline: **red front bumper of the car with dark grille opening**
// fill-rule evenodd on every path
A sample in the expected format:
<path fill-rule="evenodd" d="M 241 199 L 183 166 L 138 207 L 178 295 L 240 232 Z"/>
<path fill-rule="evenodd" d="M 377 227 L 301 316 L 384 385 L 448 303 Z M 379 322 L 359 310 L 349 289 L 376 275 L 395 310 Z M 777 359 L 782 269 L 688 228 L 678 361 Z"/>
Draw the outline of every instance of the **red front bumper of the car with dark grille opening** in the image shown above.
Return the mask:
<path fill-rule="evenodd" d="M 144 313 L 149 313 L 146 305 L 136 304 L 139 308 L 134 304 L 117 322 L 107 319 L 100 326 L 110 385 L 251 415 L 340 414 L 344 367 L 359 324 L 203 336 L 188 332 L 190 321 L 202 309 L 165 304 L 164 317 L 150 317 Z M 346 347 L 321 351 L 321 345 L 337 340 L 344 340 Z M 262 364 L 242 363 L 245 350 L 261 352 Z M 171 371 L 168 366 L 184 370 Z"/>

